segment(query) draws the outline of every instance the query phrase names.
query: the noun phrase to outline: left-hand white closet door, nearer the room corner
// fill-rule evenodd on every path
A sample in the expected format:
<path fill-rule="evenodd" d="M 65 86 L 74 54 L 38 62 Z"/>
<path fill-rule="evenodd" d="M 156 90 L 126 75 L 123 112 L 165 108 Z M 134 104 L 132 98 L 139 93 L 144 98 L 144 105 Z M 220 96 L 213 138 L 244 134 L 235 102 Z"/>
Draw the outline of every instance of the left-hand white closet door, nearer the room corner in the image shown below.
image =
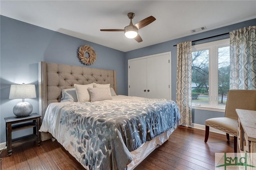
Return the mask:
<path fill-rule="evenodd" d="M 129 62 L 129 95 L 147 97 L 147 60 L 137 59 Z"/>

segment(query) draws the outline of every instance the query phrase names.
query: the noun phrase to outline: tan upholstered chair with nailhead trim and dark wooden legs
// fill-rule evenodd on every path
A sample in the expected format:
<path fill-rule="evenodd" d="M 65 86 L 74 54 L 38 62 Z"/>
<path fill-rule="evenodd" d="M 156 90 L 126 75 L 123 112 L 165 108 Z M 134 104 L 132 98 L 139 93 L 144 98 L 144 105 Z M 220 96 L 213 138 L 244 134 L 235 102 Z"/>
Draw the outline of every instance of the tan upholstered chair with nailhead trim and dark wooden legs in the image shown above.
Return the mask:
<path fill-rule="evenodd" d="M 226 132 L 234 136 L 234 153 L 237 152 L 237 114 L 236 109 L 256 110 L 256 90 L 229 90 L 226 102 L 225 117 L 207 119 L 205 121 L 205 138 L 207 142 L 209 127 Z"/>

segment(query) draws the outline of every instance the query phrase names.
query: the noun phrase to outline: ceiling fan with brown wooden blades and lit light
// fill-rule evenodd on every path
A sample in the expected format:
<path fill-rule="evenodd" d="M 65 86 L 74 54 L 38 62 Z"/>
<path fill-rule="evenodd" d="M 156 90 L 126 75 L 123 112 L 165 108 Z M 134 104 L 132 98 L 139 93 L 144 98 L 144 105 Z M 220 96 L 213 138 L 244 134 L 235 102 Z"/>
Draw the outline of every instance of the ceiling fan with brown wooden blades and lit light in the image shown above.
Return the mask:
<path fill-rule="evenodd" d="M 124 29 L 102 29 L 100 31 L 123 31 L 124 35 L 127 38 L 134 38 L 137 42 L 142 42 L 142 38 L 138 34 L 138 30 L 147 26 L 148 24 L 154 22 L 156 18 L 154 16 L 149 16 L 148 18 L 145 18 L 144 20 L 141 20 L 137 24 L 133 25 L 132 24 L 132 18 L 134 17 L 134 13 L 130 12 L 128 13 L 128 18 L 130 19 L 130 24 Z"/>

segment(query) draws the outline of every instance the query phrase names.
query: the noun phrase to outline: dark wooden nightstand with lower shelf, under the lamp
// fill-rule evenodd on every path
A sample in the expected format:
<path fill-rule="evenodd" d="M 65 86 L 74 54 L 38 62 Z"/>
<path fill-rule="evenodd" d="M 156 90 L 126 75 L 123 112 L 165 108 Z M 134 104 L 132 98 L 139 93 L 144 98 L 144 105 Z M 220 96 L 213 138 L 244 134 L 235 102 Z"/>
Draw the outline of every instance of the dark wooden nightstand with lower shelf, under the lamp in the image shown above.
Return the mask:
<path fill-rule="evenodd" d="M 19 146 L 26 142 L 37 141 L 38 146 L 41 142 L 40 132 L 40 115 L 37 113 L 31 113 L 28 117 L 6 117 L 4 118 L 6 122 L 6 146 L 8 156 L 12 154 L 12 147 Z M 19 123 L 17 125 L 13 125 Z M 22 130 L 26 128 L 33 128 L 33 134 L 23 136 L 20 138 L 12 139 L 12 132 L 16 130 Z"/>

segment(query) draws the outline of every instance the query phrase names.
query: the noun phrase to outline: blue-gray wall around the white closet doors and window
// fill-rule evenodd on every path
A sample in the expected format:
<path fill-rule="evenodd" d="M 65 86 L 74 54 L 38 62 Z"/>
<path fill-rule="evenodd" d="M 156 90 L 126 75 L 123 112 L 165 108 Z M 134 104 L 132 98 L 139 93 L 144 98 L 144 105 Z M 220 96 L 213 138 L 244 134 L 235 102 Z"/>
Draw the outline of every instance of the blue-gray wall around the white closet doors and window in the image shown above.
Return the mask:
<path fill-rule="evenodd" d="M 151 45 L 148 47 L 144 47 L 144 48 L 126 52 L 125 53 L 125 64 L 124 64 L 125 77 L 126 77 L 126 79 L 125 79 L 126 82 L 124 83 L 124 85 L 126 86 L 126 88 L 125 88 L 126 93 L 128 93 L 128 59 L 133 59 L 133 58 L 143 57 L 143 56 L 147 56 L 147 55 L 153 55 L 153 54 L 157 54 L 157 53 L 164 53 L 167 51 L 171 51 L 172 52 L 172 63 L 171 63 L 172 64 L 171 65 L 171 67 L 172 67 L 172 70 L 171 70 L 171 73 L 172 73 L 172 100 L 176 101 L 177 48 L 174 47 L 173 45 L 176 45 L 177 43 L 180 43 L 180 42 L 194 41 L 194 40 L 199 40 L 202 38 L 208 38 L 208 37 L 228 33 L 230 31 L 237 30 L 240 28 L 253 26 L 253 25 L 255 26 L 255 24 L 256 24 L 256 19 L 248 20 L 245 22 L 240 22 L 238 24 L 233 24 L 233 25 L 218 28 L 215 30 L 210 30 L 207 32 L 199 33 L 199 34 L 194 34 L 192 36 L 186 36 L 183 38 L 178 38 L 178 39 L 171 40 L 168 42 L 158 43 L 158 44 Z M 226 38 L 229 38 L 229 35 L 196 42 L 196 43 L 193 43 L 192 45 L 199 44 L 199 43 L 212 42 L 212 41 L 216 41 L 216 40 L 222 40 L 222 39 L 226 39 Z M 193 123 L 204 125 L 205 120 L 212 118 L 212 117 L 224 117 L 224 113 L 192 109 L 192 122 Z"/>

